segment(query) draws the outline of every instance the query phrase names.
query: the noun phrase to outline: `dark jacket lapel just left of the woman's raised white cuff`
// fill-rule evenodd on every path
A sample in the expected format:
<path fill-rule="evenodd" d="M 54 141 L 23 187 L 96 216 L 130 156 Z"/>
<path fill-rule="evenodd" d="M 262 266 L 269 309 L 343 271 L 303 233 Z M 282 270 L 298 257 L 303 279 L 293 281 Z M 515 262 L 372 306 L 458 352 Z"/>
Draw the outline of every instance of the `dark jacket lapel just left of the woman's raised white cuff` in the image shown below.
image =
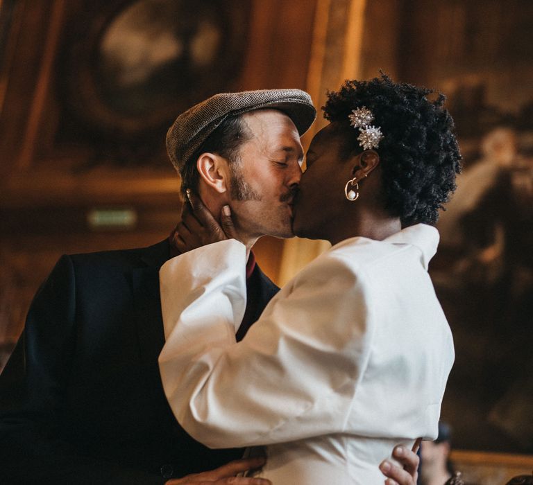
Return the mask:
<path fill-rule="evenodd" d="M 137 325 L 139 351 L 144 365 L 157 364 L 164 344 L 163 320 L 159 293 L 159 270 L 169 259 L 169 244 L 163 241 L 144 250 L 141 267 L 131 272 L 133 317 Z"/>

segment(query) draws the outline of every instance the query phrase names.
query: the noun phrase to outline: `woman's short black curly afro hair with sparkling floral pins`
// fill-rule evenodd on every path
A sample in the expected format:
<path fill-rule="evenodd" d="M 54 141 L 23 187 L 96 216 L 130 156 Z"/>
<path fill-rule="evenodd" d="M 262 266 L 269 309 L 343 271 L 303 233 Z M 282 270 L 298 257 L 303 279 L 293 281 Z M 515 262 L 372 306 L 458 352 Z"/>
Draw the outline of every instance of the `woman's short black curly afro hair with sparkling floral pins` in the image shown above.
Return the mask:
<path fill-rule="evenodd" d="M 384 138 L 380 155 L 382 195 L 385 209 L 399 217 L 403 227 L 433 224 L 439 209 L 455 190 L 461 155 L 453 134 L 453 120 L 443 108 L 443 94 L 428 100 L 431 89 L 397 84 L 382 73 L 370 81 L 346 81 L 339 91 L 328 92 L 324 117 L 335 123 L 343 139 L 343 157 L 362 152 L 359 131 L 350 126 L 353 109 L 373 112 L 372 125 L 381 127 Z"/>

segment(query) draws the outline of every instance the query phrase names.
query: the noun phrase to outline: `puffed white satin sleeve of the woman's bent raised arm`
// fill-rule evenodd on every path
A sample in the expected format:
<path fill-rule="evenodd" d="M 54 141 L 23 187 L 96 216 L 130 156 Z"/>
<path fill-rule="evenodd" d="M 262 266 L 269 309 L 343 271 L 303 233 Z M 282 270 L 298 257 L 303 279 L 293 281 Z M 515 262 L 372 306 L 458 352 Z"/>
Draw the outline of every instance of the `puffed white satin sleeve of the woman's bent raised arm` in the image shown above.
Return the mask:
<path fill-rule="evenodd" d="M 228 240 L 162 267 L 159 363 L 176 418 L 211 448 L 342 432 L 373 333 L 364 276 L 322 255 L 237 343 L 245 258 L 244 246 Z"/>

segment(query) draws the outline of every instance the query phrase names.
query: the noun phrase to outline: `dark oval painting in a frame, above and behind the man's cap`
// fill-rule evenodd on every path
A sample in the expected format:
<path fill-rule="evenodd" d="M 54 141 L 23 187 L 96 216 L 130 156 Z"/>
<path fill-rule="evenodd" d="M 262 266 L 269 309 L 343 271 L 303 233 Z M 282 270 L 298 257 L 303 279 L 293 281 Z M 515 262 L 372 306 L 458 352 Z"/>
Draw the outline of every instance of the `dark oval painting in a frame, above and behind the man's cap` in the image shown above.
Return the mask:
<path fill-rule="evenodd" d="M 58 58 L 67 141 L 99 144 L 111 162 L 142 162 L 180 112 L 239 81 L 250 2 L 86 3 Z"/>

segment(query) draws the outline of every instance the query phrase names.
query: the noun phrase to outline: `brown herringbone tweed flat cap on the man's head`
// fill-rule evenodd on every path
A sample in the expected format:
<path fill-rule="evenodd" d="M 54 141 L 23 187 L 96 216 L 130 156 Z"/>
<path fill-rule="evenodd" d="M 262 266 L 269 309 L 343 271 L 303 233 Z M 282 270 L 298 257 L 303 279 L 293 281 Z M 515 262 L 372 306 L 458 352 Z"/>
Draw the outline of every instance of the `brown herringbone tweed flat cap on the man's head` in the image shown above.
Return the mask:
<path fill-rule="evenodd" d="M 301 89 L 261 89 L 215 94 L 180 114 L 167 132 L 167 152 L 179 171 L 220 124 L 237 114 L 276 108 L 291 118 L 303 135 L 316 118 L 311 96 Z"/>

